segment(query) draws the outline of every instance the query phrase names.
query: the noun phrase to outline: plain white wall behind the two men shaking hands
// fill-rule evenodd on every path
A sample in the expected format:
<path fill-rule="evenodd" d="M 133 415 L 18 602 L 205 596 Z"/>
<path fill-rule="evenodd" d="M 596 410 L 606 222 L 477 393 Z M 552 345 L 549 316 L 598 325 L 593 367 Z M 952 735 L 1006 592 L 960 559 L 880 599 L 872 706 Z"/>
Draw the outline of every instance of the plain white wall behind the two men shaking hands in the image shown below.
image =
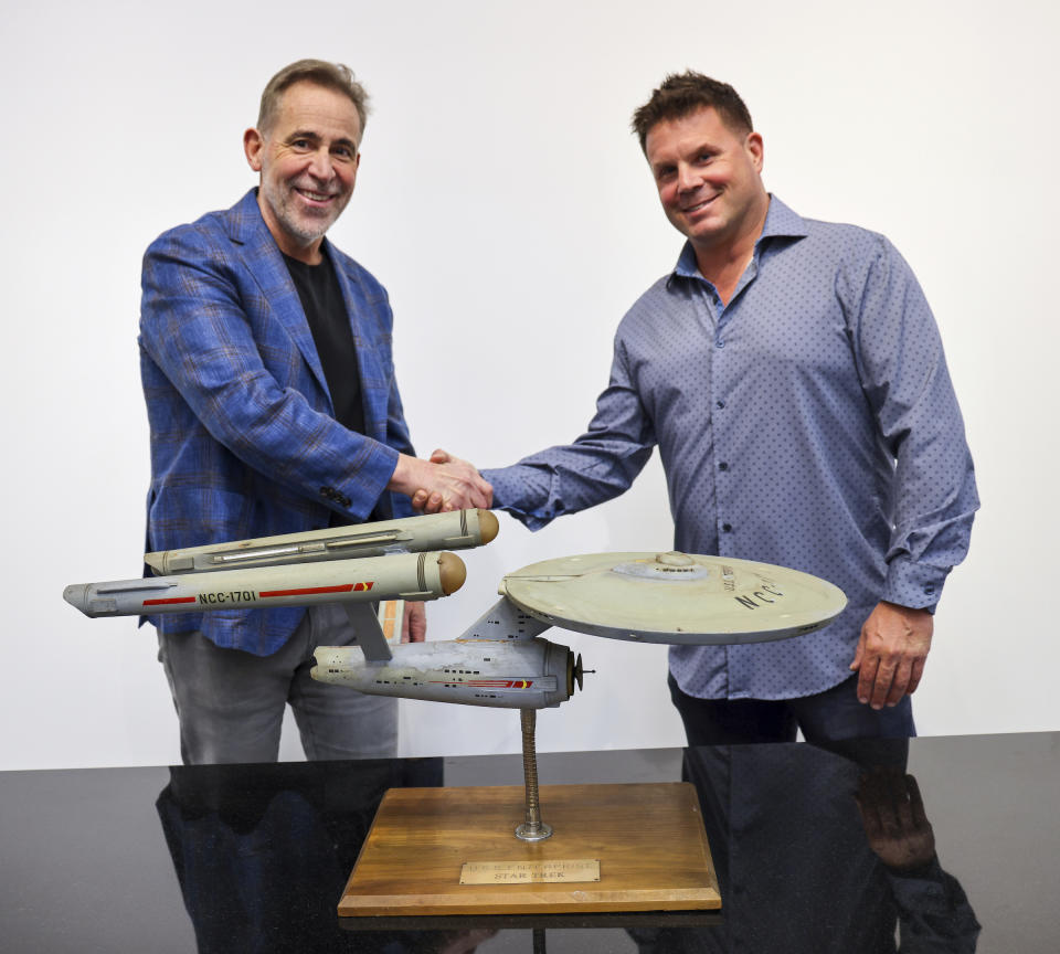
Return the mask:
<path fill-rule="evenodd" d="M 140 568 L 148 483 L 136 331 L 159 232 L 253 184 L 241 135 L 285 63 L 349 63 L 374 98 L 332 237 L 389 287 L 422 453 L 480 466 L 573 437 L 614 327 L 680 240 L 628 116 L 665 73 L 732 82 L 797 211 L 887 233 L 933 303 L 984 509 L 916 697 L 924 734 L 1060 728 L 1053 278 L 1060 14 L 1040 0 L 880 6 L 656 0 L 447 3 L 39 0 L 6 10 L 0 102 L 3 466 L 0 767 L 168 763 L 150 628 L 88 621 L 66 583 Z M 466 555 L 433 604 L 452 636 L 548 556 L 668 549 L 661 473 Z M 598 675 L 541 750 L 682 743 L 665 653 L 556 634 Z M 516 751 L 518 719 L 403 703 L 410 754 Z M 299 757 L 297 741 L 284 757 Z"/>

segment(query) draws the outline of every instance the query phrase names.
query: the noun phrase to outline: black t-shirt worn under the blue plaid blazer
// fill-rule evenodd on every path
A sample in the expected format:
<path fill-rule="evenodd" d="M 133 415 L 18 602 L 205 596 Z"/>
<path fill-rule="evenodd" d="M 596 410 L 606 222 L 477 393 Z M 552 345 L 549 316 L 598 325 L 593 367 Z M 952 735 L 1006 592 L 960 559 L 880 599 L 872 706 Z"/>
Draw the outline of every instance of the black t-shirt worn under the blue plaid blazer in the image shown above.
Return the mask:
<path fill-rule="evenodd" d="M 353 329 L 335 266 L 327 255 L 319 265 L 306 265 L 288 255 L 284 255 L 284 261 L 298 289 L 317 346 L 317 357 L 335 405 L 335 420 L 343 427 L 363 434 L 364 405 L 361 403 L 361 374 L 357 367 Z"/>

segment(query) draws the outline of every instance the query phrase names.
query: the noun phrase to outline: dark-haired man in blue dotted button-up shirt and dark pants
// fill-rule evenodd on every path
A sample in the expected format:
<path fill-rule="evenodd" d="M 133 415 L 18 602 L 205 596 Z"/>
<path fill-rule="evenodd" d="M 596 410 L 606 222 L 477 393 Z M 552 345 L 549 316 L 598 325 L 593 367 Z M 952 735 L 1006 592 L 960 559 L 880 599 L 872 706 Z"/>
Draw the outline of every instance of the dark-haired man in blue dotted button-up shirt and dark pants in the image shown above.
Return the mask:
<path fill-rule="evenodd" d="M 688 241 L 618 326 L 589 431 L 484 470 L 495 506 L 540 528 L 622 494 L 658 445 L 679 550 L 793 566 L 849 600 L 818 633 L 672 648 L 690 743 L 914 734 L 932 613 L 978 507 L 923 293 L 882 235 L 765 190 L 731 86 L 670 76 L 633 125 Z"/>

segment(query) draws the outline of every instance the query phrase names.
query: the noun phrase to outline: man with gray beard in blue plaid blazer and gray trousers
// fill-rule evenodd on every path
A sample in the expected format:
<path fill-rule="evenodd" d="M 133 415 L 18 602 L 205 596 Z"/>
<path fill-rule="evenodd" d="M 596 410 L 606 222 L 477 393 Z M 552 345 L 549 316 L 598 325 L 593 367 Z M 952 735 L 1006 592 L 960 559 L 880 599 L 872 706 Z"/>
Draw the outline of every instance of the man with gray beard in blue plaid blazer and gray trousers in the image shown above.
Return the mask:
<path fill-rule="evenodd" d="M 386 292 L 325 237 L 353 192 L 367 103 L 343 65 L 282 70 L 243 136 L 258 188 L 145 255 L 148 550 L 406 517 L 418 487 L 443 509 L 490 504 L 470 465 L 415 457 Z M 309 759 L 394 754 L 396 700 L 309 677 L 316 646 L 353 640 L 341 607 L 145 618 L 186 763 L 275 761 L 288 702 Z M 425 626 L 410 605 L 405 638 Z"/>

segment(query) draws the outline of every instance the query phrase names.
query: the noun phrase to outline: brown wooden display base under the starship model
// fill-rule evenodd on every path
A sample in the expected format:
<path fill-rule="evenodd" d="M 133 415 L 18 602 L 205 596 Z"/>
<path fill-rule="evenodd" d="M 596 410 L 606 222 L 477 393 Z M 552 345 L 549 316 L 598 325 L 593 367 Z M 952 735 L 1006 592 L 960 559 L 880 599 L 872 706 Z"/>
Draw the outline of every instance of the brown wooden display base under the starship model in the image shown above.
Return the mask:
<path fill-rule="evenodd" d="M 522 786 L 391 788 L 342 899 L 340 915 L 685 911 L 721 907 L 687 783 L 543 785 L 554 834 L 526 842 Z M 600 862 L 600 881 L 460 884 L 466 863 Z"/>

